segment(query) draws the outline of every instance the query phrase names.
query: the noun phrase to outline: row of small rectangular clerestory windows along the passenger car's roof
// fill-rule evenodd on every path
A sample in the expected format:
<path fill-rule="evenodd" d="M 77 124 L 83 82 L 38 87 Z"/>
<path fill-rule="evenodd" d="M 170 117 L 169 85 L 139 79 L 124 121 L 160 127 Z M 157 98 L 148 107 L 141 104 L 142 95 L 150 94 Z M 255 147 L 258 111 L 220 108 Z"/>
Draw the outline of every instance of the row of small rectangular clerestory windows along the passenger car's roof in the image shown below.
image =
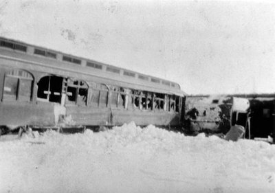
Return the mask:
<path fill-rule="evenodd" d="M 0 47 L 7 47 L 10 49 L 16 49 L 19 50 L 21 52 L 27 52 L 27 47 L 24 45 L 20 45 L 20 44 L 16 44 L 16 43 L 11 43 L 9 41 L 0 41 Z M 56 59 L 56 53 L 47 51 L 47 50 L 43 50 L 43 49 L 34 49 L 34 54 L 39 55 L 39 56 L 45 56 L 47 58 L 54 58 Z M 63 61 L 69 62 L 69 63 L 74 63 L 76 65 L 81 65 L 81 60 L 78 58 L 73 58 L 71 56 L 63 56 L 62 58 Z M 87 61 L 86 63 L 87 67 L 92 67 L 95 69 L 102 69 L 102 65 L 96 64 L 96 63 L 91 63 L 89 61 Z M 120 73 L 120 69 L 115 68 L 115 67 L 107 67 L 106 71 L 109 71 L 111 73 Z M 131 72 L 131 71 L 124 71 L 123 72 L 124 76 L 129 76 L 129 77 L 133 77 L 135 78 L 135 73 Z M 142 75 L 138 75 L 137 78 L 139 78 L 140 80 L 146 80 L 148 81 L 149 78 L 147 76 L 142 76 Z M 160 84 L 160 80 L 156 79 L 156 78 L 151 78 L 151 82 L 154 82 L 156 84 Z M 162 84 L 168 86 L 168 87 L 175 87 L 174 83 L 170 83 L 168 81 L 164 81 L 162 80 Z"/>

